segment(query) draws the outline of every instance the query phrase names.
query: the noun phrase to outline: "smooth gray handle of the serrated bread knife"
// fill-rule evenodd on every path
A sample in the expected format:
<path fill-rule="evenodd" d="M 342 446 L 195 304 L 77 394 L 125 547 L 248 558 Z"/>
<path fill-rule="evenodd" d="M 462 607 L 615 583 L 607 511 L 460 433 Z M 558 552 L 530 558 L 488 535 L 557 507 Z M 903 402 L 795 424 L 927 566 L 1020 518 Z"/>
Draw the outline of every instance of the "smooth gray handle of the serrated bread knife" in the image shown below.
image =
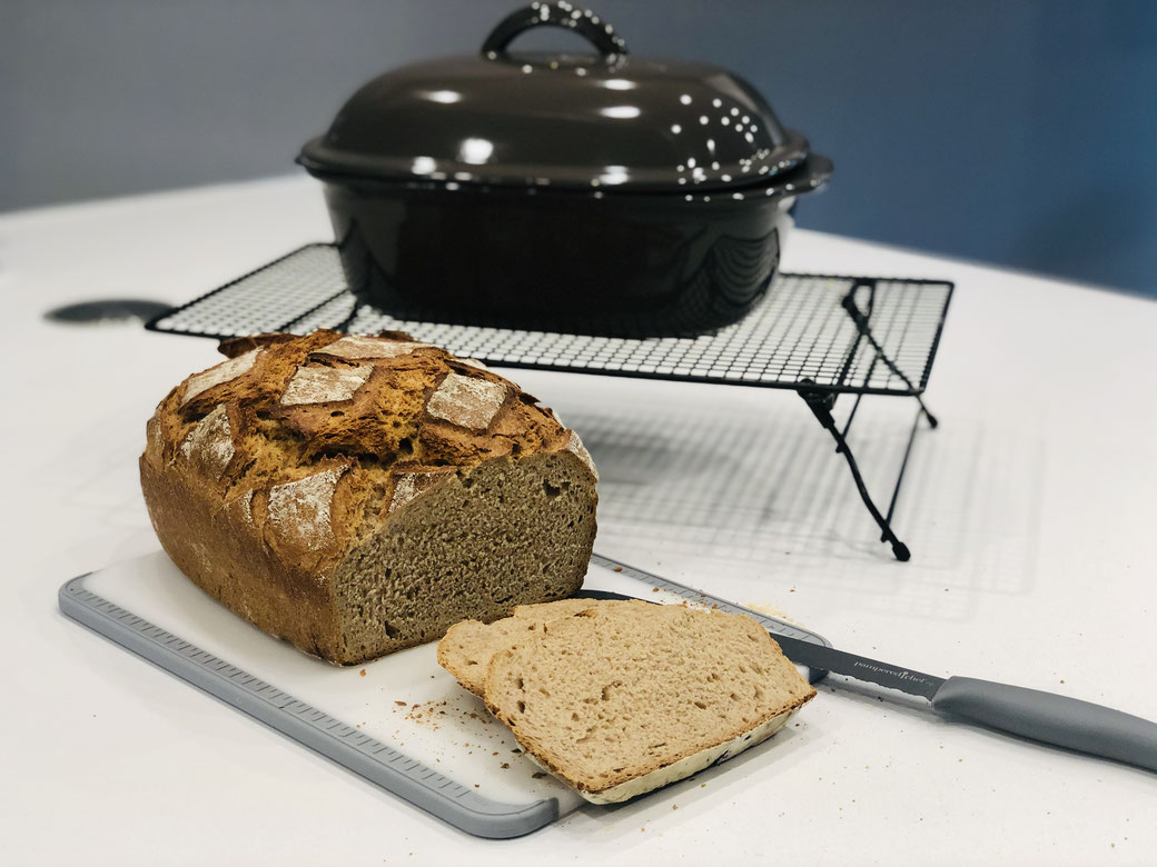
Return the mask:
<path fill-rule="evenodd" d="M 973 677 L 949 677 L 933 697 L 933 707 L 988 728 L 1157 771 L 1157 724 L 1112 707 Z"/>

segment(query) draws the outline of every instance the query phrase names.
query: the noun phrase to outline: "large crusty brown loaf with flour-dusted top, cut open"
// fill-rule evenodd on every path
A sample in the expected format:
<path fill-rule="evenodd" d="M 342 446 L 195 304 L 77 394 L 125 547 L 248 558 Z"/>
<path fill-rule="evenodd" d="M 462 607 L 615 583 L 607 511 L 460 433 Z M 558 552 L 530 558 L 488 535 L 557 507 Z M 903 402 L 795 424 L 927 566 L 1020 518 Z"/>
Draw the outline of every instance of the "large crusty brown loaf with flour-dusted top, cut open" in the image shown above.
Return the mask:
<path fill-rule="evenodd" d="M 141 486 L 161 544 L 274 636 L 354 665 L 570 595 L 595 466 L 552 410 L 406 335 L 267 335 L 157 407 Z"/>

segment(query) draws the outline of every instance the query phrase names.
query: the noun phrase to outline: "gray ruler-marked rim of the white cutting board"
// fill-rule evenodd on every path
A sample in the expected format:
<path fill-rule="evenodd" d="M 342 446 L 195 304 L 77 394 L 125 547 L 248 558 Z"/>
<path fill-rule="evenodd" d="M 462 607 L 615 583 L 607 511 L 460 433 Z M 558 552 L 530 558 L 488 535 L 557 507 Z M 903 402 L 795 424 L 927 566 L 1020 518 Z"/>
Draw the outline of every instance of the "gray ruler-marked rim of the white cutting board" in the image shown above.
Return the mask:
<path fill-rule="evenodd" d="M 747 614 L 773 635 L 781 632 L 831 646 L 813 632 L 609 557 L 595 554 L 591 560 L 690 602 Z M 78 576 L 60 587 L 58 601 L 66 616 L 455 828 L 477 837 L 502 839 L 530 833 L 558 818 L 559 805 L 553 798 L 513 805 L 466 788 L 392 744 L 362 734 L 353 726 L 93 593 L 84 587 L 89 575 L 91 572 Z M 823 674 L 812 672 L 812 681 Z"/>

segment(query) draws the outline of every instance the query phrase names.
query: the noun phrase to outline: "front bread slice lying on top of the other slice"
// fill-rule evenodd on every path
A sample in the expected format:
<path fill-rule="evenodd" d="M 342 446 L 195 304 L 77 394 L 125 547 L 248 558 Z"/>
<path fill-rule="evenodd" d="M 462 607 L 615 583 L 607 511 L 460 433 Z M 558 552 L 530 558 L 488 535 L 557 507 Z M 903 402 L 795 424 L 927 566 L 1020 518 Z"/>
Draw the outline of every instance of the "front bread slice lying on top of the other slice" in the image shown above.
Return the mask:
<path fill-rule="evenodd" d="M 614 803 L 769 738 L 816 690 L 750 617 L 596 602 L 495 653 L 484 695 L 529 756 Z"/>

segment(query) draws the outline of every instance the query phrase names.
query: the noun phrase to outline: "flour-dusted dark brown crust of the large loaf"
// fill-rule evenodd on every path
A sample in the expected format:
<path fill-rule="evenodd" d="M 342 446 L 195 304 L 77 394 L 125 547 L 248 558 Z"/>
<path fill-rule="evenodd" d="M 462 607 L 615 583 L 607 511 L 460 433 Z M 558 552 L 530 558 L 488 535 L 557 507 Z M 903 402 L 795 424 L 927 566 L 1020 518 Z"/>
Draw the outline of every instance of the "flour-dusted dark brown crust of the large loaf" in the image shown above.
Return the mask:
<path fill-rule="evenodd" d="M 244 341 L 222 347 L 228 361 L 165 397 L 149 420 L 140 460 L 157 536 L 198 586 L 265 631 L 331 661 L 352 664 L 429 640 L 430 622 L 441 617 L 379 645 L 367 643 L 362 623 L 362 637 L 352 640 L 351 563 L 356 558 L 364 575 L 364 551 L 398 551 L 382 536 L 412 525 L 404 518 L 422 499 L 420 511 L 436 523 L 430 498 L 440 490 L 445 496 L 448 480 L 460 490 L 484 465 L 518 467 L 540 454 L 557 459 L 531 464 L 562 473 L 565 496 L 575 505 L 566 534 L 552 542 L 567 548 L 566 556 L 544 550 L 543 570 L 576 554 L 581 566 L 548 575 L 537 590 L 522 587 L 535 598 L 516 593 L 501 606 L 484 605 L 485 617 L 581 584 L 597 476 L 577 437 L 535 398 L 477 362 L 406 335 L 320 331 Z M 516 527 L 521 518 L 511 511 L 502 520 Z M 525 570 L 523 555 L 518 568 Z M 501 556 L 492 555 L 492 570 Z M 389 563 L 369 565 L 389 573 Z M 406 573 L 417 580 L 412 564 Z M 336 579 L 347 581 L 341 605 Z M 363 592 L 360 584 L 356 592 Z"/>

